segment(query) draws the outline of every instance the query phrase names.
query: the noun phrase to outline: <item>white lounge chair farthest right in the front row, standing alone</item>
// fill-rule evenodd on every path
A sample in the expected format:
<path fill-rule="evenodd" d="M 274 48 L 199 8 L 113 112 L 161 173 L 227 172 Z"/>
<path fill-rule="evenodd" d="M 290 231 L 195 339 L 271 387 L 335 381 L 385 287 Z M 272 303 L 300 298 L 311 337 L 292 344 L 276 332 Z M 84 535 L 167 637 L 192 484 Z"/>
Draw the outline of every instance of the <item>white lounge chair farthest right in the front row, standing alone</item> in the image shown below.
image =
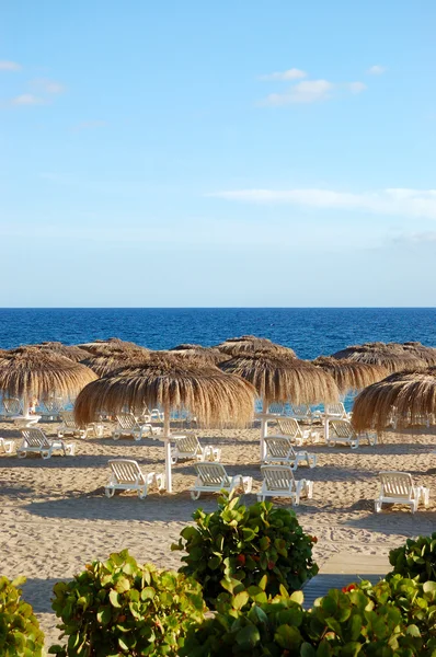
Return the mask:
<path fill-rule="evenodd" d="M 409 472 L 380 472 L 380 495 L 375 500 L 376 512 L 381 511 L 382 504 L 406 504 L 412 514 L 417 510 L 422 500 L 428 506 L 429 488 L 415 486 Z"/>

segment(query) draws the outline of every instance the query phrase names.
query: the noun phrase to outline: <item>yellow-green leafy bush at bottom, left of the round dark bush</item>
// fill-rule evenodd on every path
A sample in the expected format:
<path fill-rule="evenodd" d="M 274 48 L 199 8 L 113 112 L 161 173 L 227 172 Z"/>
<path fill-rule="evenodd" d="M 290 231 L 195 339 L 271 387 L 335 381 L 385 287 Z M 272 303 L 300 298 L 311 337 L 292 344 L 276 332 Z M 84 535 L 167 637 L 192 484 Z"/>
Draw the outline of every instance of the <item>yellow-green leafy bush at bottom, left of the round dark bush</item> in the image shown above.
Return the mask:
<path fill-rule="evenodd" d="M 54 592 L 68 643 L 49 653 L 69 657 L 176 655 L 187 625 L 200 621 L 205 609 L 196 581 L 138 565 L 127 550 L 87 565 Z"/>

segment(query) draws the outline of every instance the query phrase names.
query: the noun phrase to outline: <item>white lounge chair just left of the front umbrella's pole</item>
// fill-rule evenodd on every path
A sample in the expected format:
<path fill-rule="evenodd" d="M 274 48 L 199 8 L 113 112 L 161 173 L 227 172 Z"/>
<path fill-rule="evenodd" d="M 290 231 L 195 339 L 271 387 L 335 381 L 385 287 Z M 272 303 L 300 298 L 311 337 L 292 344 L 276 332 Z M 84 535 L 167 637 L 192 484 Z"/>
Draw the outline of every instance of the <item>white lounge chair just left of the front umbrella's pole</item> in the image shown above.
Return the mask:
<path fill-rule="evenodd" d="M 116 459 L 110 461 L 111 479 L 104 488 L 106 497 L 113 497 L 115 491 L 137 491 L 138 497 L 147 496 L 148 487 L 156 484 L 161 492 L 165 486 L 164 474 L 149 472 L 144 474 L 137 461 L 129 459 Z"/>

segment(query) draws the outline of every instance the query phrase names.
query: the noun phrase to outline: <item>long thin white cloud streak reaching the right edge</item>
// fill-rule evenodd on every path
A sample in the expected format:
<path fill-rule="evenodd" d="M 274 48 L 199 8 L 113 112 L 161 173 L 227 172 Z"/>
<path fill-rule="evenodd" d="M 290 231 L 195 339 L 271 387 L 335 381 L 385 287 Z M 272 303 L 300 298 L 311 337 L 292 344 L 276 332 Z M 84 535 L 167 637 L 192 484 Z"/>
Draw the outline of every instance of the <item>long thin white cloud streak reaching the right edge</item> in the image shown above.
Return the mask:
<path fill-rule="evenodd" d="M 209 194 L 227 200 L 353 209 L 379 215 L 436 219 L 436 189 L 392 188 L 352 194 L 331 189 L 236 189 Z"/>

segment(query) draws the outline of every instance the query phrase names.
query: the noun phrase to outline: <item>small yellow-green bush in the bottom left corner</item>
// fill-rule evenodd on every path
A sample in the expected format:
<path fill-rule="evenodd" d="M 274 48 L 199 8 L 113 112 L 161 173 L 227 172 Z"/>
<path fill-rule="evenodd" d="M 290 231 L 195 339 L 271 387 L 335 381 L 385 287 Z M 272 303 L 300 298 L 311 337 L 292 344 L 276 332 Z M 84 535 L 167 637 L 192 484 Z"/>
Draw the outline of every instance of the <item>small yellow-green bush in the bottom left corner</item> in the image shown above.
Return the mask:
<path fill-rule="evenodd" d="M 21 599 L 25 577 L 10 581 L 0 577 L 0 655 L 2 657 L 41 657 L 44 634 L 27 602 Z"/>

